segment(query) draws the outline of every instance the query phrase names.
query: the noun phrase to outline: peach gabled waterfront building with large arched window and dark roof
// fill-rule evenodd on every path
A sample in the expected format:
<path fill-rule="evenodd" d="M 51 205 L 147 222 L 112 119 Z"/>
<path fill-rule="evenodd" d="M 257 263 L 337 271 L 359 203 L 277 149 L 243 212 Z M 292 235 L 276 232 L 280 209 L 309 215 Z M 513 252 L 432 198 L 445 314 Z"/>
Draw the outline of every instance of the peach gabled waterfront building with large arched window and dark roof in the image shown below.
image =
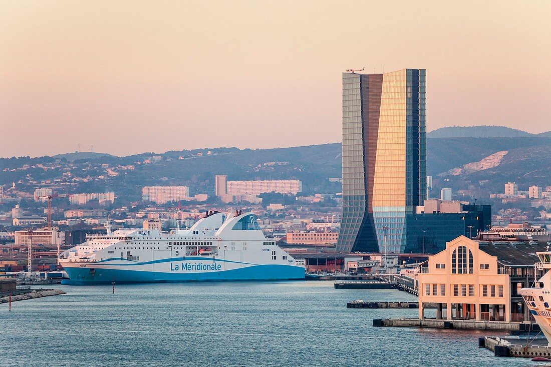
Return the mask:
<path fill-rule="evenodd" d="M 534 277 L 537 251 L 549 242 L 473 241 L 460 236 L 420 266 L 419 318 L 428 303 L 436 319 L 522 322 L 530 313 L 521 295 Z"/>

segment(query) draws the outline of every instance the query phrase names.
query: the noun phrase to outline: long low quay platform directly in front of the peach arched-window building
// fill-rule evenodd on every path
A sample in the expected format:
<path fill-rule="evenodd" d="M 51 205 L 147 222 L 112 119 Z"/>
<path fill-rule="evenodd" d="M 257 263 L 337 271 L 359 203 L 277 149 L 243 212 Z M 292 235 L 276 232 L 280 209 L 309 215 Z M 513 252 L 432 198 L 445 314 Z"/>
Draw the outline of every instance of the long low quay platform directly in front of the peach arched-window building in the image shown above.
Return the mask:
<path fill-rule="evenodd" d="M 438 319 L 374 319 L 373 326 L 426 327 L 440 329 L 475 329 L 503 331 L 539 331 L 539 326 L 530 322 L 476 321 L 476 320 L 438 320 Z"/>

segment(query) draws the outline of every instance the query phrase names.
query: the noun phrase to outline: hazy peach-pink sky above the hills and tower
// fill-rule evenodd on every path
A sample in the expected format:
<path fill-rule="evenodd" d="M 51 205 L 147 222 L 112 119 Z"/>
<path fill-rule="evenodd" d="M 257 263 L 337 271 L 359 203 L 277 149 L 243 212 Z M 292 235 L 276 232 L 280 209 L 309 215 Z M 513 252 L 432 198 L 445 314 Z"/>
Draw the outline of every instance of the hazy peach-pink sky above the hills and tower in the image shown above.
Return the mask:
<path fill-rule="evenodd" d="M 427 128 L 551 129 L 551 2 L 0 2 L 0 156 L 341 141 L 341 73 L 427 69 Z"/>

